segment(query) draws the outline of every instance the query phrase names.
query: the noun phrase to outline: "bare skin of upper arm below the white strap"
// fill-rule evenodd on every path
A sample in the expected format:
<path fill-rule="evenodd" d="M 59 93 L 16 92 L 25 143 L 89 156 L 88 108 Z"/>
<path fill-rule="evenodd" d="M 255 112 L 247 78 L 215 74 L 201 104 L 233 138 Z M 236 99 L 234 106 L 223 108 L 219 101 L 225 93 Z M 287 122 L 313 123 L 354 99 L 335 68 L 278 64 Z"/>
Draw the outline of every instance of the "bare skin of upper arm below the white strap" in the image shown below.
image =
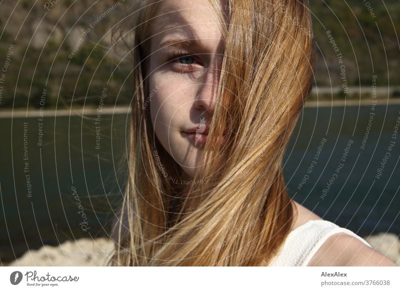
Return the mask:
<path fill-rule="evenodd" d="M 386 256 L 344 232 L 330 235 L 308 266 L 395 266 Z"/>

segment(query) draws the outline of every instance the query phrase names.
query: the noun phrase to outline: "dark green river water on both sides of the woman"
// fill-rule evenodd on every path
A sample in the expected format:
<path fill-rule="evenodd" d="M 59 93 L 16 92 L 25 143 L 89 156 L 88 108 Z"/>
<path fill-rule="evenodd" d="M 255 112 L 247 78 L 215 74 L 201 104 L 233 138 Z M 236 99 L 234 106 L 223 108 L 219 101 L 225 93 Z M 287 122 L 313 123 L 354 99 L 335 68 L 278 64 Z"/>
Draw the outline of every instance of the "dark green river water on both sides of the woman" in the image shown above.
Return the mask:
<path fill-rule="evenodd" d="M 305 107 L 284 155 L 289 194 L 359 235 L 400 234 L 399 111 Z M 2 260 L 108 232 L 123 191 L 128 115 L 96 117 L 0 118 Z"/>

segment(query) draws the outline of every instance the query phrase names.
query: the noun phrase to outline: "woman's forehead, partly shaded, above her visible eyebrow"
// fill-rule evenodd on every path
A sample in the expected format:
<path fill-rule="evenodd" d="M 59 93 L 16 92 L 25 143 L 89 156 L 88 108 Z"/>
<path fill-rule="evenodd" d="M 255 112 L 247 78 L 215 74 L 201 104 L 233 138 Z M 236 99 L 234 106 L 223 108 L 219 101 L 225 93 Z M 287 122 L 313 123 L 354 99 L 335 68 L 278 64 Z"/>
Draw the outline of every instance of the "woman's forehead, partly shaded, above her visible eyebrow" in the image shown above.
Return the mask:
<path fill-rule="evenodd" d="M 219 18 L 208 0 L 163 0 L 151 21 L 151 35 L 154 44 L 170 36 L 214 41 L 221 37 Z"/>

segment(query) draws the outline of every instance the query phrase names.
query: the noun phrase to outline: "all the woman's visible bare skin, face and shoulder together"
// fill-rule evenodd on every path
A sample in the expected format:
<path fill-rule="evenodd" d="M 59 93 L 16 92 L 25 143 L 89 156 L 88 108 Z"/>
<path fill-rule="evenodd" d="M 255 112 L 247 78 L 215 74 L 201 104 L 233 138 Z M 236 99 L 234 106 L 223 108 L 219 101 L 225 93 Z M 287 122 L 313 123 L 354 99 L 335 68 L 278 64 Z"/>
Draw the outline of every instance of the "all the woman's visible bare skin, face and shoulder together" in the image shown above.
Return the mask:
<path fill-rule="evenodd" d="M 221 6 L 223 6 L 221 2 Z M 172 12 L 171 12 L 172 11 Z M 199 12 L 201 11 L 201 13 Z M 154 132 L 162 146 L 184 170 L 182 179 L 193 176 L 201 166 L 203 146 L 185 132 L 209 123 L 215 107 L 223 54 L 223 40 L 216 14 L 207 0 L 162 1 L 151 25 L 149 92 Z M 190 47 L 164 45 L 192 39 Z M 182 55 L 170 60 L 171 53 Z M 158 87 L 158 88 L 157 88 Z M 308 220 L 322 219 L 293 201 L 291 230 Z M 393 266 L 384 255 L 345 233 L 331 235 L 308 263 L 309 266 Z"/>

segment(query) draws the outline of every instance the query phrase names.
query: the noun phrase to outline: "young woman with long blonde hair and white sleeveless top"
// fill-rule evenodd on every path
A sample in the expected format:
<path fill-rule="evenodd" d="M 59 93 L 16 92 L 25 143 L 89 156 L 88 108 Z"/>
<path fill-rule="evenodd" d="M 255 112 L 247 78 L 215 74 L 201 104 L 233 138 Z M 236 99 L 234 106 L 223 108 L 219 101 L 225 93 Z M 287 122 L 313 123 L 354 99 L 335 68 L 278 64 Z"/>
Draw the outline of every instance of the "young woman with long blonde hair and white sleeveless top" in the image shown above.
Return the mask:
<path fill-rule="evenodd" d="M 135 1 L 119 27 L 134 96 L 111 265 L 393 265 L 287 195 L 314 61 L 306 4 Z"/>

